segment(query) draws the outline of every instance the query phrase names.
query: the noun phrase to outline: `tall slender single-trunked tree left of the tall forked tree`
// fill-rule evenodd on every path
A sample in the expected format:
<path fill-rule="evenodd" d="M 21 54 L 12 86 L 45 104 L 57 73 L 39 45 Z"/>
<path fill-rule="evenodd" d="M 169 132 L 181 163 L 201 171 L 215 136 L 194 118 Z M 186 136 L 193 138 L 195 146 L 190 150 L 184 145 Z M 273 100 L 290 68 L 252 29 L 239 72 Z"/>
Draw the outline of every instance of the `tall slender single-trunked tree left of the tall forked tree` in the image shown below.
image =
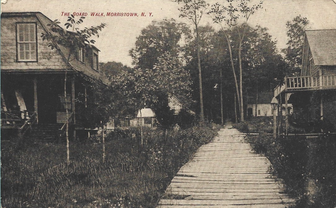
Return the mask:
<path fill-rule="evenodd" d="M 179 8 L 180 17 L 187 18 L 190 20 L 194 26 L 195 36 L 195 45 L 196 45 L 196 54 L 197 54 L 197 67 L 199 71 L 199 85 L 200 85 L 200 105 L 201 112 L 200 118 L 201 121 L 204 121 L 204 111 L 203 111 L 203 92 L 202 92 L 202 70 L 201 70 L 201 60 L 200 60 L 200 47 L 199 47 L 199 23 L 202 19 L 204 11 L 209 6 L 204 0 L 177 0 L 178 3 L 182 3 L 183 6 Z"/>

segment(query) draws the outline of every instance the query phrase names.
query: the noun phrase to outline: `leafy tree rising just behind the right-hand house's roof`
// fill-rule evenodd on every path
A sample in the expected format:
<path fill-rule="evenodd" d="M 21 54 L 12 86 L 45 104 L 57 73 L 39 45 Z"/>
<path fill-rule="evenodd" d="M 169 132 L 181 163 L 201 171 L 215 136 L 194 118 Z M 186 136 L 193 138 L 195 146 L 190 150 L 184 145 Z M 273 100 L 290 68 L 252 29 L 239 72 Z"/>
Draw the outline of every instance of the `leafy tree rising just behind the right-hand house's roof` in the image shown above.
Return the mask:
<path fill-rule="evenodd" d="M 302 48 L 305 38 L 305 28 L 309 24 L 307 18 L 296 16 L 291 22 L 288 21 L 286 26 L 288 28 L 287 36 L 289 40 L 287 42 L 288 47 L 283 50 L 286 54 L 286 59 L 291 67 L 293 75 L 300 73 L 302 65 Z"/>

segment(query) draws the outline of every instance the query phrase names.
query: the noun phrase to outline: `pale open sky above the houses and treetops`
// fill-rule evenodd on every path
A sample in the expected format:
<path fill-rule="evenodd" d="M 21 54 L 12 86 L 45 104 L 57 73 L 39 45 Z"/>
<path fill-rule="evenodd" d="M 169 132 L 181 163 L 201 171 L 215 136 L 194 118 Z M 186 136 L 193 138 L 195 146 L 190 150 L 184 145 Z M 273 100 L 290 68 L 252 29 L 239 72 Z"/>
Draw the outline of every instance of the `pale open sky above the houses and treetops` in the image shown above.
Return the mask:
<path fill-rule="evenodd" d="M 223 4 L 226 1 L 207 0 L 209 4 L 216 2 Z M 40 11 L 62 24 L 67 21 L 67 16 L 62 16 L 62 12 L 87 12 L 85 26 L 107 24 L 99 38 L 95 38 L 94 45 L 100 49 L 99 61 L 116 61 L 128 66 L 132 63 L 129 50 L 135 46 L 141 30 L 152 21 L 174 18 L 188 23 L 186 19 L 179 18 L 178 8 L 181 5 L 174 0 L 7 0 L 1 5 L 2 12 Z M 268 28 L 268 33 L 277 41 L 280 49 L 285 48 L 288 41 L 286 22 L 295 16 L 306 17 L 310 22 L 308 29 L 336 29 L 336 0 L 263 0 L 262 6 L 251 16 L 249 24 Z M 91 16 L 91 12 L 105 16 Z M 107 16 L 108 12 L 130 12 L 138 16 Z M 145 16 L 141 16 L 142 12 Z M 204 16 L 201 24 L 207 22 L 213 24 L 211 16 Z M 217 25 L 213 26 L 218 28 Z"/>

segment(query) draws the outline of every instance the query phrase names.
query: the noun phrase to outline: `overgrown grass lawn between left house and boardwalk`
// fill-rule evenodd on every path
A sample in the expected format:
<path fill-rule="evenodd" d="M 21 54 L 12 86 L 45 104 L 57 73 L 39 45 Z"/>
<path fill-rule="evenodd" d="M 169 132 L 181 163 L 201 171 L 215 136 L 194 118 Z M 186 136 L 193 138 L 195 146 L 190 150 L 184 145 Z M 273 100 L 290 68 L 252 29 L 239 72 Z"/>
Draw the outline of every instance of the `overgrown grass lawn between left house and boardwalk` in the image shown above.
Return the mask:
<path fill-rule="evenodd" d="M 106 138 L 105 162 L 97 141 L 71 141 L 70 163 L 64 142 L 3 141 L 1 206 L 155 207 L 174 174 L 216 132 L 147 131 L 142 147 L 132 131 L 114 132 Z"/>

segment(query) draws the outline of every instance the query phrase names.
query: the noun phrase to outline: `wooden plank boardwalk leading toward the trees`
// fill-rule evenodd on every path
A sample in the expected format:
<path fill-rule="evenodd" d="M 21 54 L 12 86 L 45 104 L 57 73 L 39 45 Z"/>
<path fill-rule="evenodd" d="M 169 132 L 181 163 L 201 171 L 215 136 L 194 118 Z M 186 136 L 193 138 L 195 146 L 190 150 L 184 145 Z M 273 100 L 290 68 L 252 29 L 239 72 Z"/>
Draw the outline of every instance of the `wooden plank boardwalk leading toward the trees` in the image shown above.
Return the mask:
<path fill-rule="evenodd" d="M 244 134 L 226 125 L 201 146 L 167 187 L 157 208 L 284 208 L 293 200 L 281 180 L 268 174 L 270 162 L 253 153 Z"/>

